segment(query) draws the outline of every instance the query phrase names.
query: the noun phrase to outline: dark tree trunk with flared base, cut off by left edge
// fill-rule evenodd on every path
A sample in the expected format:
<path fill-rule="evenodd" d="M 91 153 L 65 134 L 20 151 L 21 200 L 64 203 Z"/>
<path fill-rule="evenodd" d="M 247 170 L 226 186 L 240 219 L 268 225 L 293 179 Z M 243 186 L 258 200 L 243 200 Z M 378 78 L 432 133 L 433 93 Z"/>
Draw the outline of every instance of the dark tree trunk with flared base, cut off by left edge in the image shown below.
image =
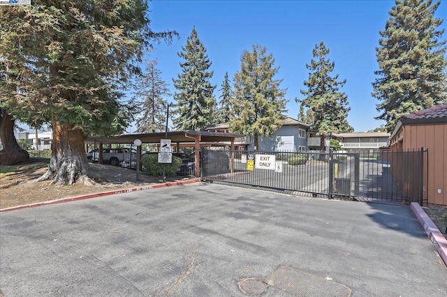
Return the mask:
<path fill-rule="evenodd" d="M 0 109 L 0 165 L 15 165 L 29 160 L 29 153 L 22 149 L 14 136 L 14 119 L 5 109 Z"/>

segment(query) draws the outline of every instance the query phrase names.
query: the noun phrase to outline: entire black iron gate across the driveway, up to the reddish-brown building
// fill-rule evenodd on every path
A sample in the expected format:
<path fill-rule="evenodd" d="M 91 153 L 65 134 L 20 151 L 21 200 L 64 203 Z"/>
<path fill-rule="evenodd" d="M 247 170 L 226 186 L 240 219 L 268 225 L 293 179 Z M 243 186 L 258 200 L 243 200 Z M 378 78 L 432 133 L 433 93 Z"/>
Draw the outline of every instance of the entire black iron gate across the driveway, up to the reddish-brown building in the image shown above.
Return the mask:
<path fill-rule="evenodd" d="M 219 152 L 219 153 L 217 153 Z M 218 156 L 218 157 L 216 157 Z M 223 157 L 224 156 L 224 157 Z M 202 148 L 204 180 L 360 201 L 427 201 L 427 151 L 304 153 Z"/>

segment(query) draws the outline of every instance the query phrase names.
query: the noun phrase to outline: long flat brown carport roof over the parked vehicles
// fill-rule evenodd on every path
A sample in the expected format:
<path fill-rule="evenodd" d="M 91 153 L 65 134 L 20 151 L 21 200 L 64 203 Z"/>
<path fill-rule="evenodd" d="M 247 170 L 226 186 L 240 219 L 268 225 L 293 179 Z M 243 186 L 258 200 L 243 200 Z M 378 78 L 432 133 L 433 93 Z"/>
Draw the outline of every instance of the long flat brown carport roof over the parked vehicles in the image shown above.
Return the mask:
<path fill-rule="evenodd" d="M 171 142 L 231 142 L 236 137 L 243 137 L 242 134 L 210 132 L 210 131 L 172 131 L 168 132 L 167 139 Z M 160 139 L 166 139 L 165 132 L 114 135 L 108 137 L 89 137 L 88 140 L 96 142 L 107 142 L 114 144 L 132 144 L 135 139 L 140 139 L 143 144 L 159 143 Z"/>

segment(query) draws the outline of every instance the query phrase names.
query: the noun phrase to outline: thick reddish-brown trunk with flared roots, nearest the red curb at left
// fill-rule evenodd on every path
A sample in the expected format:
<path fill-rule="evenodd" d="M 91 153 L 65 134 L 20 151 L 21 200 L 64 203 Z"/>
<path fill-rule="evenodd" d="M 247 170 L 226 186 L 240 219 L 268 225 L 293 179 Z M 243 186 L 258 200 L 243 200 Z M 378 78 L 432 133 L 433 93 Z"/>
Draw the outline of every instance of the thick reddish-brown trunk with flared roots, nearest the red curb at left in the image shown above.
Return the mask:
<path fill-rule="evenodd" d="M 50 166 L 38 181 L 52 180 L 52 183 L 71 185 L 78 181 L 91 185 L 87 176 L 89 162 L 84 150 L 84 132 L 72 125 L 52 123 L 53 142 Z"/>

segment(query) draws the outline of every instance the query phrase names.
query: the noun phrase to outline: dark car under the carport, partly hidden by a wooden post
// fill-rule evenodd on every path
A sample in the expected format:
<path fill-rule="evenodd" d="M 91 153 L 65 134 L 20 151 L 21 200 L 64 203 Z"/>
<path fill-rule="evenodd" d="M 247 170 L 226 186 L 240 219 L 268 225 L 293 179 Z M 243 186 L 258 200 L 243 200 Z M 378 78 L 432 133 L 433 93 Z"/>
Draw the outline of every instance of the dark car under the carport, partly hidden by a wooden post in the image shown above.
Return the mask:
<path fill-rule="evenodd" d="M 200 164 L 200 170 L 203 174 L 224 174 L 230 172 L 230 156 L 226 151 L 221 150 L 207 150 L 205 151 L 202 160 L 203 166 Z M 177 172 L 178 175 L 194 175 L 196 169 L 196 153 L 191 153 L 189 158 L 184 159 L 182 165 Z"/>

